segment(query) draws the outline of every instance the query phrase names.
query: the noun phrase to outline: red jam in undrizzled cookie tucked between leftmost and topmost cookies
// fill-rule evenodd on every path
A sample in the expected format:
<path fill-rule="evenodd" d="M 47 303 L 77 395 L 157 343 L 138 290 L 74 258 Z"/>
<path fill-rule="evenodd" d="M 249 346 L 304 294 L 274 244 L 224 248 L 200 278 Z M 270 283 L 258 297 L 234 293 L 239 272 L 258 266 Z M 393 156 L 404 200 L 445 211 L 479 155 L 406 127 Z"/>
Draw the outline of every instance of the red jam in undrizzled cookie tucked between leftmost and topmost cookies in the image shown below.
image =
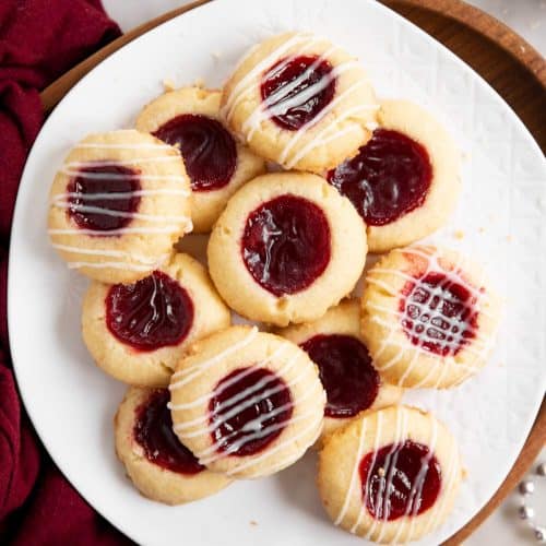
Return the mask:
<path fill-rule="evenodd" d="M 234 176 L 237 147 L 219 121 L 183 114 L 159 127 L 154 135 L 179 146 L 193 191 L 218 190 Z"/>

